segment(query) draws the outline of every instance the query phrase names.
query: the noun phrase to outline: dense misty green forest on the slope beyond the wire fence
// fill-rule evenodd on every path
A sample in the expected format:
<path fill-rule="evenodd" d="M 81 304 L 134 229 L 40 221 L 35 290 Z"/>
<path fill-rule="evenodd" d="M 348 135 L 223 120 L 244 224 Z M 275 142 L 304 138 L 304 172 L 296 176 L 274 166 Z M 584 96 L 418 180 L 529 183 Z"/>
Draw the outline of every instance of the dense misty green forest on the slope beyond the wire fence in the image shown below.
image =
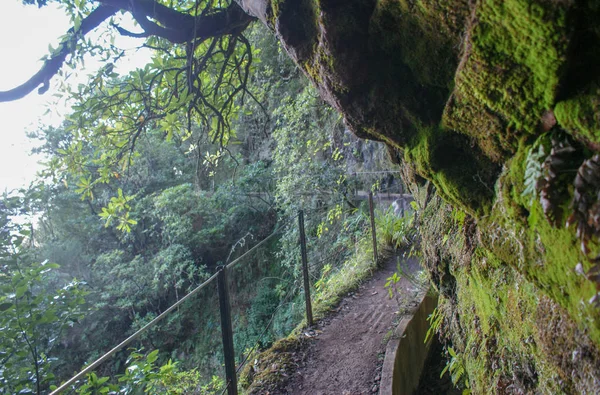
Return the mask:
<path fill-rule="evenodd" d="M 140 120 L 138 114 L 133 121 L 126 120 L 130 115 L 125 112 L 133 110 L 122 104 L 133 103 L 135 95 L 133 91 L 119 95 L 137 89 L 130 84 L 144 80 L 144 75 L 166 70 L 160 63 L 166 55 L 158 50 L 156 59 L 163 60 L 155 59 L 154 71 L 106 73 L 97 86 L 68 92 L 77 100 L 64 123 L 31 134 L 39 141 L 36 151 L 46 157 L 47 166 L 27 190 L 2 200 L 3 207 L 19 210 L 2 211 L 2 232 L 16 235 L 10 219 L 31 214 L 33 234 L 15 236 L 20 238 L 7 248 L 27 255 L 31 273 L 23 283 L 35 288 L 32 295 L 43 300 L 57 293 L 63 296 L 54 310 L 36 302 L 35 308 L 46 312 L 41 319 L 48 321 L 48 333 L 55 335 L 51 344 L 50 334 L 36 339 L 42 342 L 33 358 L 36 363 L 26 363 L 32 356 L 23 354 L 12 365 L 29 374 L 26 384 L 13 380 L 18 377 L 14 369 L 10 375 L 4 369 L 8 392 L 22 385 L 40 393 L 68 378 L 187 294 L 218 265 L 264 239 L 275 226 L 281 229 L 280 237 L 232 274 L 239 360 L 255 344 L 264 347 L 286 335 L 303 317 L 297 308 L 300 209 L 307 212 L 309 259 L 316 280 L 351 254 L 365 224 L 365 211 L 354 200 L 354 192 L 370 188 L 379 177 L 351 174 L 385 168 L 384 151 L 345 130 L 268 31 L 256 25 L 247 36 L 255 62 L 245 82 L 248 96 L 227 104 L 231 113 L 223 118 L 225 126 L 219 126 L 220 121 L 205 123 L 217 119 L 214 114 L 202 120 L 193 112 L 180 111 L 188 107 L 175 102 L 164 117 Z M 206 78 L 220 78 L 218 69 L 205 73 Z M 167 83 L 171 77 L 156 78 Z M 109 97 L 111 90 L 114 95 Z M 219 94 L 219 100 L 223 97 Z M 102 111 L 108 112 L 94 119 L 98 106 L 106 106 Z M 133 123 L 125 126 L 127 122 Z M 52 263 L 34 263 L 45 261 Z M 10 278 L 15 277 L 3 277 Z M 9 291 L 4 295 L 2 308 L 16 311 L 8 304 L 13 303 Z M 285 308 L 280 309 L 282 304 Z M 215 306 L 214 290 L 208 289 L 142 336 L 136 347 L 161 351 L 129 357 L 141 369 L 136 374 L 143 380 L 125 369 L 128 357 L 123 352 L 90 375 L 79 391 L 111 385 L 126 393 L 127 388 L 165 385 L 182 393 L 200 391 L 202 386 L 206 391 L 218 388 L 219 380 L 211 379 L 222 364 Z M 28 321 L 31 327 L 39 324 Z M 159 368 L 160 363 L 166 368 Z M 41 373 L 32 378 L 36 366 Z M 187 390 L 174 386 L 175 378 L 189 382 Z"/>

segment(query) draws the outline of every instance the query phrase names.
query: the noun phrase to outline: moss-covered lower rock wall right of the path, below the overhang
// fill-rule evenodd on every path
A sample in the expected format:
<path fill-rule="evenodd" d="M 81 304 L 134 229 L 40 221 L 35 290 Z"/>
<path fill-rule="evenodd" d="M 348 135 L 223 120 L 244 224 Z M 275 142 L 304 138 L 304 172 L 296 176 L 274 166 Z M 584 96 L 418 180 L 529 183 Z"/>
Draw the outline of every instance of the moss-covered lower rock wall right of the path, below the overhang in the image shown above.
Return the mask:
<path fill-rule="evenodd" d="M 573 270 L 572 230 L 552 227 L 537 203 L 523 206 L 519 159 L 527 150 L 523 140 L 479 231 L 439 198 L 419 214 L 423 255 L 444 289 L 442 333 L 461 354 L 473 393 L 589 392 L 600 374 L 597 311 L 586 302 L 593 287 Z"/>

